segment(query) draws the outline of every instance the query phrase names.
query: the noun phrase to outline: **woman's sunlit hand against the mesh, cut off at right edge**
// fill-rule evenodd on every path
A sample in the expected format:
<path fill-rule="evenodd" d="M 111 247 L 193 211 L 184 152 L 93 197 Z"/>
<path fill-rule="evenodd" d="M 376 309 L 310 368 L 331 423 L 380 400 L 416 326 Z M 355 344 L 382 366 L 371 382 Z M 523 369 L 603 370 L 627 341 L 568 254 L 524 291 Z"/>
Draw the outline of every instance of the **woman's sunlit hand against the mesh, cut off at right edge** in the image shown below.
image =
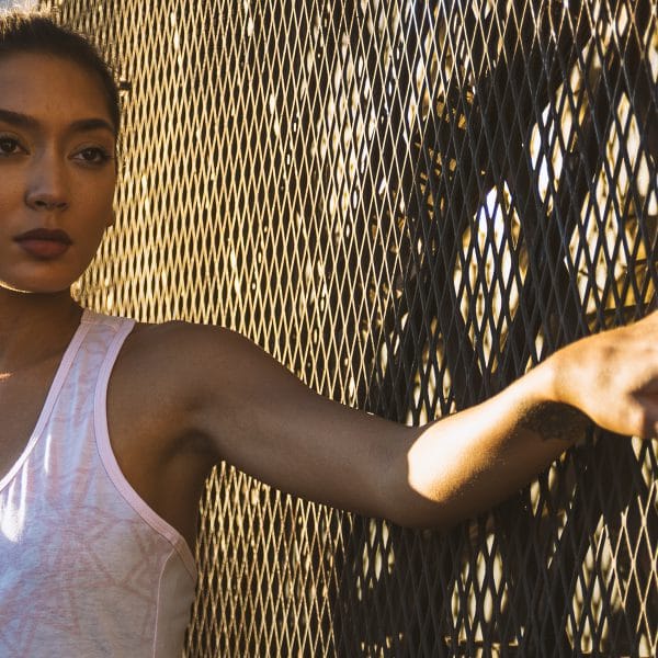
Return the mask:
<path fill-rule="evenodd" d="M 658 435 L 658 311 L 579 340 L 548 361 L 557 401 L 612 432 Z"/>

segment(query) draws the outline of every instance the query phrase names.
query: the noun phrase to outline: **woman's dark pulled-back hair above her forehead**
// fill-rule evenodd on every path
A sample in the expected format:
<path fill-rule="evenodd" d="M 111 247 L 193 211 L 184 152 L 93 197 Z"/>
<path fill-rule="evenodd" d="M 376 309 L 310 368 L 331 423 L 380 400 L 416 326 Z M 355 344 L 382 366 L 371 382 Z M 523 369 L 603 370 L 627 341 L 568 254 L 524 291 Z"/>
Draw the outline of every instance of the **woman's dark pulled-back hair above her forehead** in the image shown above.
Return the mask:
<path fill-rule="evenodd" d="M 57 25 L 44 13 L 16 10 L 0 13 L 0 58 L 15 53 L 55 55 L 95 75 L 103 87 L 118 135 L 121 103 L 117 84 L 105 60 L 83 35 Z"/>

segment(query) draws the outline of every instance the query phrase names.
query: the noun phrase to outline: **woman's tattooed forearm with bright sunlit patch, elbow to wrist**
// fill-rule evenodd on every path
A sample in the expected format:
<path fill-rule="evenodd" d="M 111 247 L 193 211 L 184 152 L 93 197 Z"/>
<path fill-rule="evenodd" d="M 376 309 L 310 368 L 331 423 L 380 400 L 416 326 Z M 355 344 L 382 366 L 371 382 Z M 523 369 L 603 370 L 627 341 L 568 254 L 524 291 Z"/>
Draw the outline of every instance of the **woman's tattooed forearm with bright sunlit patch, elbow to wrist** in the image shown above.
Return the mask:
<path fill-rule="evenodd" d="M 556 397 L 554 367 L 542 364 L 486 402 L 412 430 L 392 464 L 393 520 L 450 527 L 512 495 L 581 436 L 589 421 Z"/>

